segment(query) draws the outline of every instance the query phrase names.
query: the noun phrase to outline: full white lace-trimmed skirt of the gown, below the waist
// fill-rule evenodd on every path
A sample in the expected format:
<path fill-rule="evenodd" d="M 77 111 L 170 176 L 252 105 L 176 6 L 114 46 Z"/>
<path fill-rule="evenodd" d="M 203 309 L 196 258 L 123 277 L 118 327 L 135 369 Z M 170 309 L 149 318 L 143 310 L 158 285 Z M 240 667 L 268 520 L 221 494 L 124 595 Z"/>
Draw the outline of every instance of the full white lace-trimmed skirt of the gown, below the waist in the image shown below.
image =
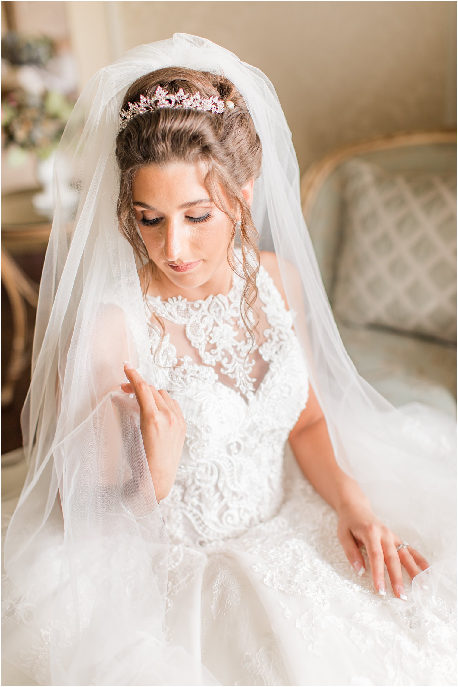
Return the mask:
<path fill-rule="evenodd" d="M 402 567 L 407 601 L 385 565 L 386 596 L 350 565 L 336 511 L 285 444 L 285 499 L 240 537 L 210 543 L 202 561 L 180 551 L 166 624 L 223 685 L 454 685 L 456 607 L 450 589 L 425 590 Z M 410 538 L 409 538 L 410 537 Z M 430 562 L 420 542 L 407 541 Z M 431 552 L 433 554 L 433 552 Z M 173 546 L 171 546 L 173 570 Z M 420 571 L 419 571 L 420 572 Z M 453 587 L 452 587 L 453 588 Z"/>

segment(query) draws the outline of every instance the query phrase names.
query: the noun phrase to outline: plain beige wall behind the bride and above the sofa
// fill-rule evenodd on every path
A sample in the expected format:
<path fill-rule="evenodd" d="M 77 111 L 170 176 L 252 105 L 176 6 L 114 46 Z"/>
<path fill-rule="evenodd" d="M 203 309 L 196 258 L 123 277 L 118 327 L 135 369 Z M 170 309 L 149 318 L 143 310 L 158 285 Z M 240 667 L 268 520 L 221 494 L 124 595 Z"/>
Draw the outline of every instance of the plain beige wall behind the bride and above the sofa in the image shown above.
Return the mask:
<path fill-rule="evenodd" d="M 65 3 L 81 83 L 140 43 L 209 38 L 272 80 L 301 172 L 356 139 L 456 124 L 454 1 Z"/>

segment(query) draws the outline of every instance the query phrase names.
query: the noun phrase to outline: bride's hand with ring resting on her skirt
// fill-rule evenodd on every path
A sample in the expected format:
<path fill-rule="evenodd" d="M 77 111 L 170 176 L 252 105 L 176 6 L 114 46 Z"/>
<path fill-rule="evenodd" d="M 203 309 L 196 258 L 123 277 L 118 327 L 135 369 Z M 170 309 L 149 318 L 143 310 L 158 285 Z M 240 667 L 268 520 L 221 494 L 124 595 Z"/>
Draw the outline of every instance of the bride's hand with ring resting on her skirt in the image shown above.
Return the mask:
<path fill-rule="evenodd" d="M 364 559 L 360 548 L 364 545 L 372 569 L 372 580 L 378 594 L 381 596 L 386 594 L 383 568 L 383 564 L 386 563 L 394 594 L 398 598 L 407 600 L 402 583 L 401 565 L 404 565 L 413 579 L 420 572 L 418 566 L 421 570 L 429 567 L 428 561 L 411 546 L 396 551 L 396 546 L 402 543 L 402 539 L 381 523 L 370 506 L 359 503 L 350 504 L 340 508 L 338 513 L 337 537 L 350 564 L 357 572 L 363 569 Z"/>

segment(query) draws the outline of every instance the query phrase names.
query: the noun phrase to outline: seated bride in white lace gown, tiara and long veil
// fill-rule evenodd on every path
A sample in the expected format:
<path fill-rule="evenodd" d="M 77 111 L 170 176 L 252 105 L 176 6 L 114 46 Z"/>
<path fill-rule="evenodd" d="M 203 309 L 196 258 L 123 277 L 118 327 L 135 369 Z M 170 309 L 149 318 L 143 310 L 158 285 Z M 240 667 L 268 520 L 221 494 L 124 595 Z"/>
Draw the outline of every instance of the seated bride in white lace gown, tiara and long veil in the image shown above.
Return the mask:
<path fill-rule="evenodd" d="M 357 374 L 298 178 L 272 84 L 204 38 L 80 96 L 4 542 L 21 684 L 455 684 L 456 425 Z"/>

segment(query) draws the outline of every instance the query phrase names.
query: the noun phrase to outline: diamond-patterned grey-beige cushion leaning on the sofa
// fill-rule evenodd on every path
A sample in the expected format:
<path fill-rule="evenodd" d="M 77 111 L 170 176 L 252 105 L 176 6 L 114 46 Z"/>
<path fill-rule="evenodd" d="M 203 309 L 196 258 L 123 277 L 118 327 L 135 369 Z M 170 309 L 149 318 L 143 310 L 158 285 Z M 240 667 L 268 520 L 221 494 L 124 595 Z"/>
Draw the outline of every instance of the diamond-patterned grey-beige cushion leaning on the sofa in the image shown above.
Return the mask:
<path fill-rule="evenodd" d="M 346 324 L 457 340 L 457 174 L 343 165 L 332 291 Z"/>

